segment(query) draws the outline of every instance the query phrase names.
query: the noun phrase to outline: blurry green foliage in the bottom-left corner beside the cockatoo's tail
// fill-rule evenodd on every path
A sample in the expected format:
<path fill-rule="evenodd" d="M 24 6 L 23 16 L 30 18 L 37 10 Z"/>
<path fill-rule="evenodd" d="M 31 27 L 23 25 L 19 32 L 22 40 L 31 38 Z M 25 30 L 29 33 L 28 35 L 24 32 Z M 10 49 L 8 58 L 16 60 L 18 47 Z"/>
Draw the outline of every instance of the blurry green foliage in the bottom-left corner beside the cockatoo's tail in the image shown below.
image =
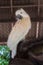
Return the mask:
<path fill-rule="evenodd" d="M 6 45 L 0 45 L 0 65 L 8 65 L 10 61 L 10 49 Z"/>

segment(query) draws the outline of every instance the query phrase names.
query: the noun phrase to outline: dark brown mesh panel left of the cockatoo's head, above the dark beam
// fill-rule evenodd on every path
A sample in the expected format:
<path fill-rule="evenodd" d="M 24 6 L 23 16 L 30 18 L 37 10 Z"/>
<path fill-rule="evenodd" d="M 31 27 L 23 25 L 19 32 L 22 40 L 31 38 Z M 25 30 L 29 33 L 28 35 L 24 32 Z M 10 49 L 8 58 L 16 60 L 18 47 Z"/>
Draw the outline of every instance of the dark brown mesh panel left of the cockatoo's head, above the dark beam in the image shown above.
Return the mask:
<path fill-rule="evenodd" d="M 9 19 L 11 17 L 10 8 L 0 8 L 0 19 Z"/>

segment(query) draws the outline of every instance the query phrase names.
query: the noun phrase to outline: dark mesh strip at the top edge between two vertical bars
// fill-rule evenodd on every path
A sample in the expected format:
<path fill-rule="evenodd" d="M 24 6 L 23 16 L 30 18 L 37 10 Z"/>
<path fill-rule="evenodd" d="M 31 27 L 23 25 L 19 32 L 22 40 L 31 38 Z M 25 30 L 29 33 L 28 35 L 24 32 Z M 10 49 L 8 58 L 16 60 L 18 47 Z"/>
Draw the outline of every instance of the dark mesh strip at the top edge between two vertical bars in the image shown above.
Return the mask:
<path fill-rule="evenodd" d="M 37 0 L 13 0 L 13 5 L 34 5 L 38 4 Z"/>

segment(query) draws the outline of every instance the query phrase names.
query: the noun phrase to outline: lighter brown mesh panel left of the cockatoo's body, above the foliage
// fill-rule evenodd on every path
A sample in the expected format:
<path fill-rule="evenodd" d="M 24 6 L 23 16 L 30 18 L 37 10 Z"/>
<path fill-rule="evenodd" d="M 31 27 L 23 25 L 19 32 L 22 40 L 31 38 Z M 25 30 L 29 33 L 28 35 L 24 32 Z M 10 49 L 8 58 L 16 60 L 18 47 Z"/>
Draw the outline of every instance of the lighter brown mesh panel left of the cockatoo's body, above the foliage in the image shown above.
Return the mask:
<path fill-rule="evenodd" d="M 11 31 L 11 23 L 0 23 L 0 41 L 7 41 Z"/>

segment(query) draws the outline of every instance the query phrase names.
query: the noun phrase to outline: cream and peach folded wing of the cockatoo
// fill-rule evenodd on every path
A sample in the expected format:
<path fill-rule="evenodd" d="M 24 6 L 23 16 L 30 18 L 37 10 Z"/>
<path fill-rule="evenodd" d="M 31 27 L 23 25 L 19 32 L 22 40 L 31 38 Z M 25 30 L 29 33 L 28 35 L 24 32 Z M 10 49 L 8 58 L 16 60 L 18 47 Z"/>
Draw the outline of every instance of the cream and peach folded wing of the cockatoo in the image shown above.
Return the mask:
<path fill-rule="evenodd" d="M 8 38 L 8 46 L 14 47 L 18 42 L 20 42 L 24 38 L 28 29 L 27 22 L 25 21 L 26 20 L 24 19 L 20 20 L 14 25 Z"/>

